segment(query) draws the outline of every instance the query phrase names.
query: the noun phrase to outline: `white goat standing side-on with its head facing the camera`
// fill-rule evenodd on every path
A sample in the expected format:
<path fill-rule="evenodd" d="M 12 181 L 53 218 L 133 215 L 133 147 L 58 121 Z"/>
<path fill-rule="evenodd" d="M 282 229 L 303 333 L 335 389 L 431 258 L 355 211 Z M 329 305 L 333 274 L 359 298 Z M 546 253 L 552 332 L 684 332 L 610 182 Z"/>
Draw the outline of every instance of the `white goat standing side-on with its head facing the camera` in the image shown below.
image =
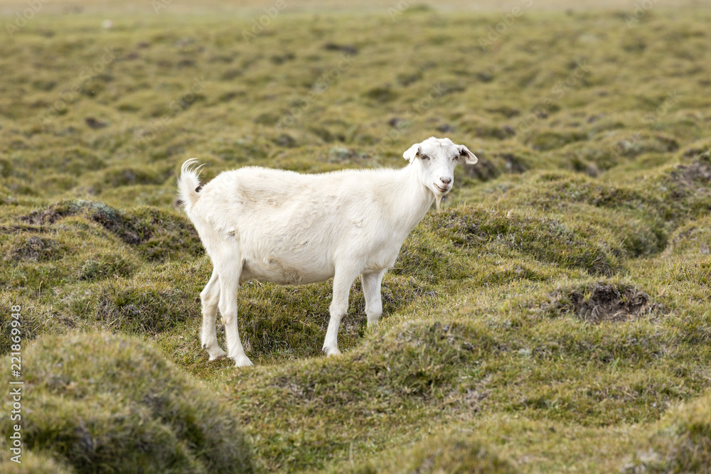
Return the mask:
<path fill-rule="evenodd" d="M 358 275 L 368 325 L 378 323 L 383 313 L 380 281 L 402 242 L 433 200 L 439 208 L 451 190 L 456 163 L 477 161 L 466 146 L 434 137 L 402 156 L 410 165 L 399 170 L 301 175 L 250 166 L 220 173 L 204 186 L 193 168 L 197 160 L 183 163 L 178 179 L 183 209 L 213 262 L 213 274 L 200 293 L 201 342 L 210 360 L 228 355 L 237 367 L 252 365 L 237 330 L 237 289 L 252 279 L 297 285 L 333 277 L 327 355 L 341 353 L 338 326 Z M 217 341 L 218 308 L 228 353 Z"/>

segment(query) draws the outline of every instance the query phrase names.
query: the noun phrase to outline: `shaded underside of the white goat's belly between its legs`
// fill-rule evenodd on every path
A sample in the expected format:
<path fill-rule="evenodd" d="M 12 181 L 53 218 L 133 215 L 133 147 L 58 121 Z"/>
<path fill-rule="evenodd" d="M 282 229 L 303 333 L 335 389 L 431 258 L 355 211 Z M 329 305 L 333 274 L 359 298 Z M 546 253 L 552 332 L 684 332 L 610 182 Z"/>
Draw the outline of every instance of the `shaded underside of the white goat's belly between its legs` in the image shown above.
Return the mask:
<path fill-rule="evenodd" d="M 289 265 L 279 259 L 260 262 L 246 261 L 242 265 L 240 281 L 271 281 L 279 285 L 304 285 L 326 281 L 333 276 L 333 268 L 326 265 Z"/>

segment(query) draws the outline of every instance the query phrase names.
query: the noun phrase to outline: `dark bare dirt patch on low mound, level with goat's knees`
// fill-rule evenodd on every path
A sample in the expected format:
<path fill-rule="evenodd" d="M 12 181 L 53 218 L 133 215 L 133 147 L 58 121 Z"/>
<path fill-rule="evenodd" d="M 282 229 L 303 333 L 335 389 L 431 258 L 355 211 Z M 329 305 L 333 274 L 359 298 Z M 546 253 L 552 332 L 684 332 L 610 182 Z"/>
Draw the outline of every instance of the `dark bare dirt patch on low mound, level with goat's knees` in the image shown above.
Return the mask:
<path fill-rule="evenodd" d="M 542 306 L 544 310 L 573 313 L 590 323 L 632 321 L 661 307 L 634 286 L 601 281 L 589 287 L 556 290 L 550 298 Z"/>

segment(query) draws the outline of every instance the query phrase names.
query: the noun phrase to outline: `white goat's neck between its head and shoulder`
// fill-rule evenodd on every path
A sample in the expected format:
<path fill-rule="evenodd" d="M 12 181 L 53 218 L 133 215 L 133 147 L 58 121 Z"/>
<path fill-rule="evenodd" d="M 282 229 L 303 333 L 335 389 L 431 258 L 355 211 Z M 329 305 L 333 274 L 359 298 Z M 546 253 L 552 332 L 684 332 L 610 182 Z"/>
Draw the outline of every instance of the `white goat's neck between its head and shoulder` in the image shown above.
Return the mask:
<path fill-rule="evenodd" d="M 390 202 L 393 224 L 402 229 L 407 237 L 432 207 L 434 194 L 419 180 L 415 164 L 399 170 L 397 179 L 392 184 L 393 198 Z"/>

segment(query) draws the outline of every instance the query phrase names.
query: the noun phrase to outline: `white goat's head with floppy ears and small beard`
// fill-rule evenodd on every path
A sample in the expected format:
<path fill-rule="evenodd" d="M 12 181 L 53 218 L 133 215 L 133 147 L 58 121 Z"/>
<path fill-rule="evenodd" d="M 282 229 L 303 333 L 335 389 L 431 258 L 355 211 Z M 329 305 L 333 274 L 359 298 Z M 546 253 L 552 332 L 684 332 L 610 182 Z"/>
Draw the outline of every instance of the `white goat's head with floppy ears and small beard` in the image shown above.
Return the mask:
<path fill-rule="evenodd" d="M 437 208 L 442 196 L 449 193 L 454 185 L 456 163 L 473 165 L 478 161 L 466 146 L 455 145 L 450 139 L 436 139 L 434 136 L 410 146 L 402 156 L 417 166 L 420 181 L 437 199 Z"/>

